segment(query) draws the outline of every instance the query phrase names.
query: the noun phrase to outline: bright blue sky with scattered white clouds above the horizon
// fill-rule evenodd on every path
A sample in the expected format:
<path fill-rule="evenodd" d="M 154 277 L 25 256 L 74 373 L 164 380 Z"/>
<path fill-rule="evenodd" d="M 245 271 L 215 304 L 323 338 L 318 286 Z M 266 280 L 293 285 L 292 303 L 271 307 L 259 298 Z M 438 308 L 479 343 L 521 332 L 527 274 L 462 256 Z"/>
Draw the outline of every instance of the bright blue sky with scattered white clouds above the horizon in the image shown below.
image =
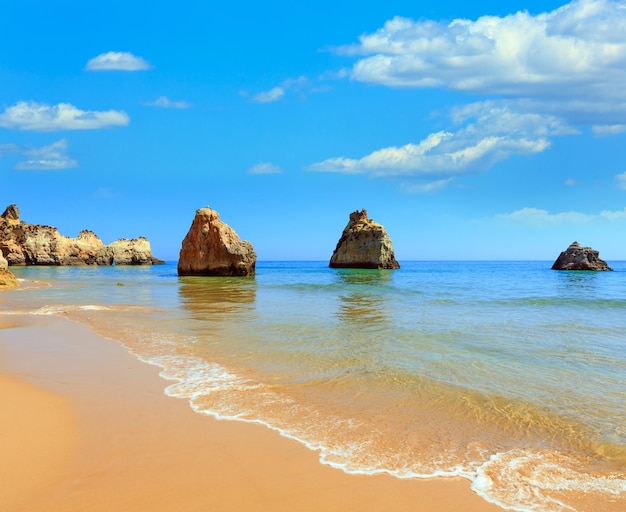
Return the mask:
<path fill-rule="evenodd" d="M 0 210 L 177 260 L 626 260 L 626 1 L 4 0 Z M 3 204 L 4 203 L 4 204 Z"/>

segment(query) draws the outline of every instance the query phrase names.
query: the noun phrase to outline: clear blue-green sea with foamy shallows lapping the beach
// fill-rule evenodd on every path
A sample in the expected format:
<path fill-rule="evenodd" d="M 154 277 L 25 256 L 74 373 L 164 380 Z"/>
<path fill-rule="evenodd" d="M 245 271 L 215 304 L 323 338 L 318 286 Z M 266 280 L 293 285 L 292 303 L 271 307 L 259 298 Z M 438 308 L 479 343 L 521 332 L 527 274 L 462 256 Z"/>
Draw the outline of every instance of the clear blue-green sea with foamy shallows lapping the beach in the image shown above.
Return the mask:
<path fill-rule="evenodd" d="M 400 263 L 11 267 L 38 284 L 0 312 L 87 323 L 194 411 L 340 471 L 462 477 L 506 510 L 626 510 L 626 262 Z"/>

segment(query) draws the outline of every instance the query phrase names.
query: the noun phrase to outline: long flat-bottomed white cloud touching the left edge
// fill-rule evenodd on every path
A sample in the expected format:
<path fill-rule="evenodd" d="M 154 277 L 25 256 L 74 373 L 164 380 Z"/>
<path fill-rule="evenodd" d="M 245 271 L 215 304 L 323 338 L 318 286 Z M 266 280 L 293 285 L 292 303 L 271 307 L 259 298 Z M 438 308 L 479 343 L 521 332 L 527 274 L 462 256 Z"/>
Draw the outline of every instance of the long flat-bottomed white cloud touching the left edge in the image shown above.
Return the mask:
<path fill-rule="evenodd" d="M 69 103 L 51 106 L 34 101 L 20 101 L 0 114 L 0 127 L 41 132 L 93 130 L 109 126 L 126 126 L 128 123 L 129 118 L 125 112 L 85 111 Z"/>

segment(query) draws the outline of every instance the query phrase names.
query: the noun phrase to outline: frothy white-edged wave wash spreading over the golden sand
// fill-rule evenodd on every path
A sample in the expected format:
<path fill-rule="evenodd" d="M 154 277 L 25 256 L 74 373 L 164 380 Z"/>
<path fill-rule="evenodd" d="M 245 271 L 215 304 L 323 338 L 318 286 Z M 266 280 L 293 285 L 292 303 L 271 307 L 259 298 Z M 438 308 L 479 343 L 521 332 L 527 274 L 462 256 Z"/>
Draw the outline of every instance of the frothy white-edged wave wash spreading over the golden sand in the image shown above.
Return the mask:
<path fill-rule="evenodd" d="M 321 463 L 349 474 L 389 474 L 402 479 L 463 477 L 486 501 L 517 512 L 571 512 L 568 493 L 617 497 L 626 493 L 621 473 L 602 476 L 581 470 L 581 460 L 559 451 L 525 449 L 489 454 L 479 445 L 420 460 L 380 450 L 367 423 L 320 413 L 276 392 L 272 386 L 202 358 L 160 355 L 150 363 L 174 384 L 168 396 L 187 399 L 192 409 L 222 420 L 255 423 L 319 452 Z M 369 432 L 369 434 L 367 433 Z M 460 462 L 460 460 L 462 462 Z"/>

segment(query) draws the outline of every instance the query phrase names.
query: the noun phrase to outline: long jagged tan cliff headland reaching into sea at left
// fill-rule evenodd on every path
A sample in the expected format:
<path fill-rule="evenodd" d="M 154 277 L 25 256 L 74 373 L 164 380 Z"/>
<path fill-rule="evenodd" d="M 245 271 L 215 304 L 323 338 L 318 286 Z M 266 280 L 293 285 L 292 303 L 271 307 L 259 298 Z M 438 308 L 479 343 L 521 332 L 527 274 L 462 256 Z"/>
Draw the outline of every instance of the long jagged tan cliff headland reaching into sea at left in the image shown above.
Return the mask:
<path fill-rule="evenodd" d="M 145 238 L 117 240 L 105 245 L 93 231 L 76 238 L 52 226 L 20 220 L 16 205 L 0 216 L 0 251 L 9 265 L 118 265 L 162 263 L 152 256 Z M 118 260 L 119 259 L 119 260 Z"/>

